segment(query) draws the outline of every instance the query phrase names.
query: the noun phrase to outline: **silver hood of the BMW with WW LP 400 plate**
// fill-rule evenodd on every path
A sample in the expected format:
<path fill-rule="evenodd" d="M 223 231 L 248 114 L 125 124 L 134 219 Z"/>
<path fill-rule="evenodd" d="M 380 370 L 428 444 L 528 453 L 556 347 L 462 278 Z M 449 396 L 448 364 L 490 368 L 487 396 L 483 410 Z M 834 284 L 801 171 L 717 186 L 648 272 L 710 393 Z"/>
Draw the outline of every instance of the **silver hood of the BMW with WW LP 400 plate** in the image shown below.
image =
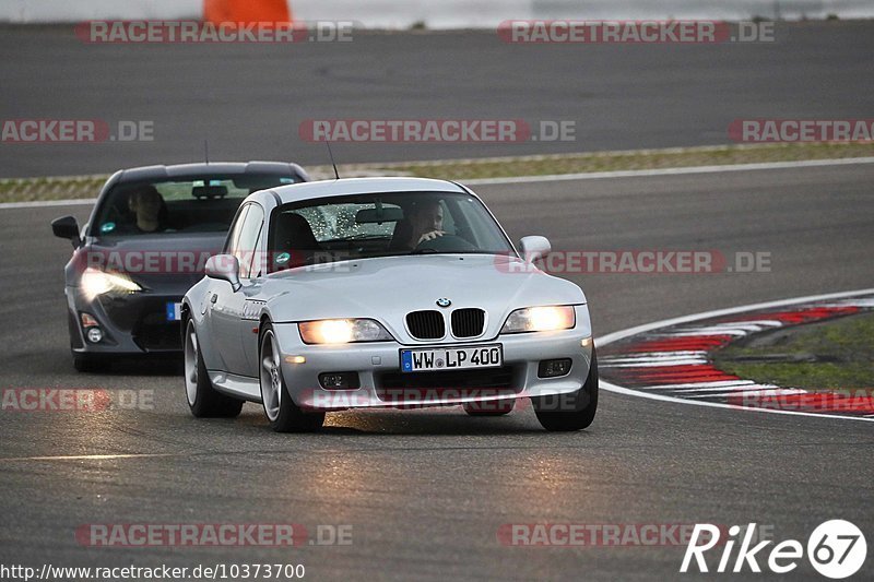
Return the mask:
<path fill-rule="evenodd" d="M 494 337 L 510 311 L 521 307 L 579 305 L 586 296 L 576 284 L 547 275 L 521 259 L 485 254 L 427 254 L 343 261 L 271 275 L 263 293 L 275 322 L 330 318 L 373 318 L 394 337 L 408 337 L 410 311 L 486 311 L 486 333 Z M 437 299 L 451 305 L 437 307 Z"/>

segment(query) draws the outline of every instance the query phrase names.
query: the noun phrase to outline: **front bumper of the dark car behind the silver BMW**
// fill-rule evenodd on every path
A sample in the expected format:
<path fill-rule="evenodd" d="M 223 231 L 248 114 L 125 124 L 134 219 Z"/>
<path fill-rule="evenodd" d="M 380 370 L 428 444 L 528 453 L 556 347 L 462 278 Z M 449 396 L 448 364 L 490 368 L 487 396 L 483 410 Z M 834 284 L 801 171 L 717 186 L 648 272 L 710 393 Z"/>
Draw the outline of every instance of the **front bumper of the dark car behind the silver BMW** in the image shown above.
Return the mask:
<path fill-rule="evenodd" d="M 182 300 L 186 288 L 167 293 L 132 293 L 90 298 L 79 287 L 67 287 L 70 346 L 76 354 L 177 354 L 181 352 L 181 323 L 168 320 L 167 305 Z M 103 340 L 92 343 L 81 314 L 97 320 Z"/>

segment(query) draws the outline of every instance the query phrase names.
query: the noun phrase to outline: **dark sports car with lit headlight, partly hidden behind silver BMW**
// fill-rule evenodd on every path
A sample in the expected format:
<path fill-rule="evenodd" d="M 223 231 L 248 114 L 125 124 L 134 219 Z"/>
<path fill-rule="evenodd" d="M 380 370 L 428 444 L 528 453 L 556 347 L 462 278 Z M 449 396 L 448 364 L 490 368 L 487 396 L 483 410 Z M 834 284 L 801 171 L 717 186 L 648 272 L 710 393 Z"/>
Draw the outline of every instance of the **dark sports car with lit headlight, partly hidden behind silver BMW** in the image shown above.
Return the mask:
<path fill-rule="evenodd" d="M 279 162 L 125 169 L 104 185 L 81 229 L 72 216 L 55 219 L 55 235 L 75 249 L 64 288 L 75 368 L 179 353 L 182 296 L 221 251 L 243 200 L 307 180 L 302 167 Z"/>

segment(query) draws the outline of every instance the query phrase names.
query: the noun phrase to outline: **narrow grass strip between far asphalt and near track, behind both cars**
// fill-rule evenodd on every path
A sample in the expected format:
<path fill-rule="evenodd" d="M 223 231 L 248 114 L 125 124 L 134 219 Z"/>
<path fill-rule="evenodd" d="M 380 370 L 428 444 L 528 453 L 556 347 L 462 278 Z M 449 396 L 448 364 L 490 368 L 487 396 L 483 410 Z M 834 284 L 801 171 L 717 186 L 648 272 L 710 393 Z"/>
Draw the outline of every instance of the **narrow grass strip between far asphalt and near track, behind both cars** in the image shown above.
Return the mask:
<path fill-rule="evenodd" d="M 436 162 L 342 164 L 340 175 L 345 178 L 418 176 L 470 180 L 849 157 L 874 157 L 874 143 L 720 145 Z M 316 179 L 333 177 L 330 166 L 311 166 L 307 169 Z M 106 178 L 107 176 L 72 176 L 0 179 L 0 202 L 95 198 Z"/>

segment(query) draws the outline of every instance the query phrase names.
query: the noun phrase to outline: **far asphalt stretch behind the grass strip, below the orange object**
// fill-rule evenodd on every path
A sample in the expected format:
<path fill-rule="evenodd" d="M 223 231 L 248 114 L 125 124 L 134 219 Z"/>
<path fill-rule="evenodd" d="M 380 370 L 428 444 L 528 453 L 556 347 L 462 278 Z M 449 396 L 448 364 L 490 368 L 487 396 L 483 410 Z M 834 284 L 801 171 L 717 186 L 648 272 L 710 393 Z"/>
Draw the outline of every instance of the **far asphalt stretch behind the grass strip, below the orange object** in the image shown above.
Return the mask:
<path fill-rule="evenodd" d="M 335 144 L 338 162 L 353 163 L 724 144 L 734 119 L 870 117 L 874 21 L 780 25 L 776 40 L 508 45 L 481 31 L 85 45 L 72 26 L 0 26 L 0 119 L 154 128 L 147 142 L 0 143 L 0 177 L 200 162 L 204 140 L 216 161 L 327 164 L 322 144 L 298 136 L 308 119 L 576 123 L 564 142 Z"/>

